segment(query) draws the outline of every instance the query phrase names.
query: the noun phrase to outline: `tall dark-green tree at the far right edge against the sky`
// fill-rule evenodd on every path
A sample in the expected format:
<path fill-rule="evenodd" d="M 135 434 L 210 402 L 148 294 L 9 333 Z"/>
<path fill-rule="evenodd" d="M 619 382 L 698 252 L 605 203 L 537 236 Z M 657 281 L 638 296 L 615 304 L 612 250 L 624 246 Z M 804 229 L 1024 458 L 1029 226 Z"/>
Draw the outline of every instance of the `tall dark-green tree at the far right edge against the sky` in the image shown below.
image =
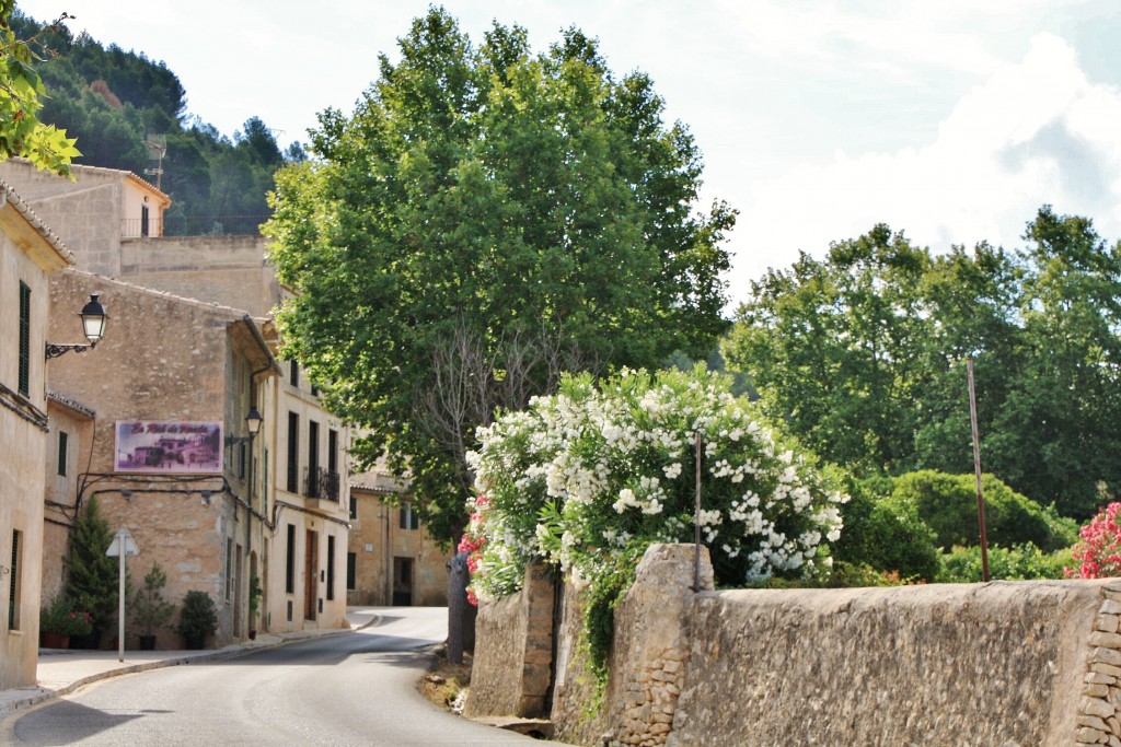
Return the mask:
<path fill-rule="evenodd" d="M 985 469 L 1088 519 L 1121 486 L 1121 242 L 1049 206 L 1023 237 L 1021 362 L 983 439 Z"/>

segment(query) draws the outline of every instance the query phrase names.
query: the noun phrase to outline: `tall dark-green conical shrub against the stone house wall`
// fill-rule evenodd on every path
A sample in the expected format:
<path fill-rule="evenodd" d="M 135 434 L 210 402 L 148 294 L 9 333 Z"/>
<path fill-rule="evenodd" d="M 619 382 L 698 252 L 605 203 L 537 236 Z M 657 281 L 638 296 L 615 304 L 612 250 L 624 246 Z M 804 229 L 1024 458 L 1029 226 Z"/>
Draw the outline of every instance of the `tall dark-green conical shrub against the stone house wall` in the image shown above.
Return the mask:
<path fill-rule="evenodd" d="M 66 598 L 75 608 L 93 616 L 93 626 L 103 628 L 113 619 L 119 604 L 118 559 L 105 554 L 113 531 L 101 515 L 96 496 L 91 496 L 71 529 L 70 548 L 63 558 Z"/>

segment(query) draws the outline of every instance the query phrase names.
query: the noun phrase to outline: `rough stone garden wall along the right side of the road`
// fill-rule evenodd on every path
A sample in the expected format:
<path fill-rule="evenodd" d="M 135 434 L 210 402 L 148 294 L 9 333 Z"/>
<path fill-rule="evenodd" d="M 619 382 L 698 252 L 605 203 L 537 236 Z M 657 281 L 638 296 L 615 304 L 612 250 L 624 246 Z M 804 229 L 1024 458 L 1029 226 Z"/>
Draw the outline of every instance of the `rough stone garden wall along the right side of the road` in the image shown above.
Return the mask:
<path fill-rule="evenodd" d="M 553 666 L 558 739 L 1121 747 L 1121 581 L 700 594 L 692 585 L 692 547 L 647 551 L 615 613 L 611 678 L 593 717 L 580 592 L 567 586 Z M 525 604 L 480 614 L 472 698 L 518 670 L 508 645 L 518 632 L 501 618 L 525 615 Z M 507 643 L 501 671 L 488 661 L 495 633 Z"/>

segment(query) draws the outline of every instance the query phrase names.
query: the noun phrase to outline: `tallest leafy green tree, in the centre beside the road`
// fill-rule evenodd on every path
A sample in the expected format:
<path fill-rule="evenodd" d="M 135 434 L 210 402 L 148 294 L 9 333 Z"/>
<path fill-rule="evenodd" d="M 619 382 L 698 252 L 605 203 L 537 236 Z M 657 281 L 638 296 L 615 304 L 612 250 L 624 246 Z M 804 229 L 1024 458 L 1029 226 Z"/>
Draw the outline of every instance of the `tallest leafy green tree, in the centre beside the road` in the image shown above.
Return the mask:
<path fill-rule="evenodd" d="M 498 24 L 475 47 L 443 9 L 311 160 L 279 172 L 266 231 L 296 297 L 288 354 L 408 469 L 438 536 L 462 529 L 463 455 L 495 408 L 564 370 L 707 353 L 725 323 L 734 213 L 697 209 L 701 158 L 641 73 L 575 29 L 544 54 Z"/>

